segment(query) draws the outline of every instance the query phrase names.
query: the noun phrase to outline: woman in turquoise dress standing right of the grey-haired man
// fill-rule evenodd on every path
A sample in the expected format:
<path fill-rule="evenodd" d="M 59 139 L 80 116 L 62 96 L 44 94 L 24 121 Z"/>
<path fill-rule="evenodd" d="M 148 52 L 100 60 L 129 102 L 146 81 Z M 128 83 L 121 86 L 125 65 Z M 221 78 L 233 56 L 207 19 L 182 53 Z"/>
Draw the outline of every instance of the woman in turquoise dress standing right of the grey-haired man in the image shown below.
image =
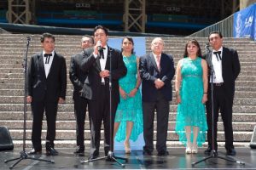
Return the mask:
<path fill-rule="evenodd" d="M 187 154 L 197 153 L 206 141 L 207 118 L 207 62 L 201 59 L 201 48 L 195 40 L 186 43 L 183 59 L 177 63 L 176 98 L 177 120 L 175 131 Z"/>

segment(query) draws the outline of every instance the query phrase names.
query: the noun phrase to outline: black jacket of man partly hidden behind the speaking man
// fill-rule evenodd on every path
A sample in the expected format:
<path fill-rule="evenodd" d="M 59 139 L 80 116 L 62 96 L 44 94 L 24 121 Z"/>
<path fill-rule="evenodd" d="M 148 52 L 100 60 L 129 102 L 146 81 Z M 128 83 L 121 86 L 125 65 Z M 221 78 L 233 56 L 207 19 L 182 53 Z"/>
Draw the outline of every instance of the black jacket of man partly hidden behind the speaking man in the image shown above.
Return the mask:
<path fill-rule="evenodd" d="M 84 81 L 88 74 L 88 72 L 84 72 L 80 67 L 80 63 L 83 59 L 84 51 L 71 56 L 69 79 L 73 83 L 73 99 L 79 99 L 81 97 Z"/>

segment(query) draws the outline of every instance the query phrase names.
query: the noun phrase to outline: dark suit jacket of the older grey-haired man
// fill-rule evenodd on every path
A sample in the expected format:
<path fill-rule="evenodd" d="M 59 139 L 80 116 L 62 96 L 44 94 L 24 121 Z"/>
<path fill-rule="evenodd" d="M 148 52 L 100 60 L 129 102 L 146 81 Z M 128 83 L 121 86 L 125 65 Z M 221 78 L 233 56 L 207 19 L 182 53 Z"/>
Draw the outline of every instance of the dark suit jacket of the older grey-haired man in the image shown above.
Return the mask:
<path fill-rule="evenodd" d="M 158 90 L 164 94 L 166 100 L 172 100 L 172 78 L 175 74 L 172 55 L 161 54 L 160 68 L 159 71 L 152 53 L 146 54 L 140 58 L 139 71 L 143 80 L 142 94 L 144 102 L 156 101 L 156 93 Z M 154 81 L 158 78 L 165 82 L 164 87 L 160 89 L 154 86 Z"/>

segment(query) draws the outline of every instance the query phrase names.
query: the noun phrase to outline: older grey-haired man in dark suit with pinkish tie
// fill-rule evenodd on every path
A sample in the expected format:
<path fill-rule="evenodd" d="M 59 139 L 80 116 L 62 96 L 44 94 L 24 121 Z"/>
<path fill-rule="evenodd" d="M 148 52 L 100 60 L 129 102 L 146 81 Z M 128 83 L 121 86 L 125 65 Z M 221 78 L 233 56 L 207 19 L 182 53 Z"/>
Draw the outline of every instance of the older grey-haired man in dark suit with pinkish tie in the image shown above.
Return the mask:
<path fill-rule="evenodd" d="M 151 42 L 152 53 L 140 59 L 139 70 L 143 80 L 143 155 L 154 150 L 154 110 L 157 115 L 156 150 L 158 156 L 168 156 L 166 150 L 169 101 L 172 100 L 172 78 L 175 74 L 171 55 L 164 54 L 164 41 L 160 37 Z"/>

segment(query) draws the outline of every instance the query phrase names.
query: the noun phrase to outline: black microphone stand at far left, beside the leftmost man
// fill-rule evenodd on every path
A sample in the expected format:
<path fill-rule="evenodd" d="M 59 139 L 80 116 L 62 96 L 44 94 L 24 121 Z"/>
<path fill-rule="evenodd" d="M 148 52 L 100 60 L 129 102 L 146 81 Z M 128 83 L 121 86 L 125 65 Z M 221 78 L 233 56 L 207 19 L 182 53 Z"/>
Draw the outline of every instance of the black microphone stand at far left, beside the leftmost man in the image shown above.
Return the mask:
<path fill-rule="evenodd" d="M 50 163 L 54 163 L 55 161 L 53 160 L 44 160 L 44 159 L 40 159 L 40 158 L 35 158 L 35 157 L 31 157 L 28 156 L 28 154 L 26 153 L 26 67 L 27 67 L 27 52 L 28 52 L 28 47 L 29 47 L 29 42 L 31 41 L 31 37 L 26 37 L 26 54 L 24 56 L 24 63 L 23 68 L 24 68 L 24 119 L 23 119 L 23 150 L 20 151 L 20 157 L 17 158 L 13 158 L 10 160 L 4 160 L 5 163 L 9 162 L 9 161 L 16 161 L 13 165 L 11 165 L 9 168 L 12 169 L 13 167 L 15 167 L 15 165 L 17 165 L 20 161 L 25 160 L 25 159 L 31 159 L 31 160 L 37 160 L 37 161 L 46 161 L 46 162 L 50 162 Z"/>

